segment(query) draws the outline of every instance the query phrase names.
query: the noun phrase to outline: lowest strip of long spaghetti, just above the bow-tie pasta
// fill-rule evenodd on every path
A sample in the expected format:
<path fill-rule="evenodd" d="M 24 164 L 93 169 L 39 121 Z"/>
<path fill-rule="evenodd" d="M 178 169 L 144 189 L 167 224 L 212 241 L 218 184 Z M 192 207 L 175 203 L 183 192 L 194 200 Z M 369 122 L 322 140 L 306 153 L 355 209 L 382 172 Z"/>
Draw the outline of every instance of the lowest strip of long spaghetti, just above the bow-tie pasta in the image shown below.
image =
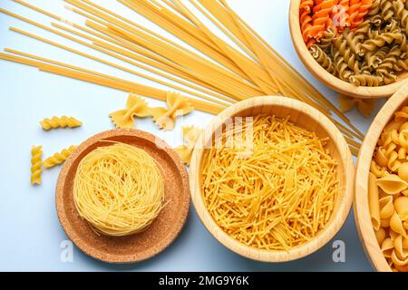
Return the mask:
<path fill-rule="evenodd" d="M 9 62 L 13 62 L 13 63 L 21 63 L 24 65 L 34 66 L 38 68 L 40 71 L 43 71 L 46 73 L 58 74 L 58 75 L 70 77 L 76 80 L 80 80 L 83 82 L 92 82 L 95 84 L 110 87 L 110 88 L 124 91 L 124 92 L 134 92 L 142 96 L 150 97 L 150 98 L 157 99 L 157 100 L 164 101 L 164 102 L 166 102 L 167 100 L 167 92 L 164 90 L 151 88 L 149 86 L 142 85 L 137 82 L 131 82 L 131 81 L 115 78 L 107 74 L 96 73 L 96 72 L 83 73 L 89 70 L 82 69 L 82 71 L 77 71 L 77 70 L 68 69 L 65 67 L 60 67 L 57 65 L 37 62 L 31 59 L 18 57 L 18 56 L 15 56 L 13 54 L 8 54 L 8 53 L 0 53 L 0 59 L 9 61 Z M 192 103 L 194 108 L 199 111 L 205 111 L 205 112 L 214 114 L 214 113 L 219 113 L 223 111 L 224 109 L 226 109 L 226 107 L 222 107 L 217 104 L 210 103 L 210 102 L 203 102 L 199 99 L 194 99 L 194 98 L 189 98 L 189 97 L 187 98 L 189 102 Z"/>

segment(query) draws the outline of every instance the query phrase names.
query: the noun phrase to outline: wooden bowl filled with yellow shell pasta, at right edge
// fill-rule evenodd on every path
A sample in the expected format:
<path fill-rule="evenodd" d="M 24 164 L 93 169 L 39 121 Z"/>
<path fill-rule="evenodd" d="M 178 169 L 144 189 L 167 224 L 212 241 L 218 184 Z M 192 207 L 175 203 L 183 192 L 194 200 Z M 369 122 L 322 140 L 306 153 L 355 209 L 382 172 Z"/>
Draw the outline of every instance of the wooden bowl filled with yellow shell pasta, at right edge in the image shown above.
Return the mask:
<path fill-rule="evenodd" d="M 355 222 L 377 271 L 408 271 L 407 105 L 408 83 L 378 112 L 358 156 Z"/>

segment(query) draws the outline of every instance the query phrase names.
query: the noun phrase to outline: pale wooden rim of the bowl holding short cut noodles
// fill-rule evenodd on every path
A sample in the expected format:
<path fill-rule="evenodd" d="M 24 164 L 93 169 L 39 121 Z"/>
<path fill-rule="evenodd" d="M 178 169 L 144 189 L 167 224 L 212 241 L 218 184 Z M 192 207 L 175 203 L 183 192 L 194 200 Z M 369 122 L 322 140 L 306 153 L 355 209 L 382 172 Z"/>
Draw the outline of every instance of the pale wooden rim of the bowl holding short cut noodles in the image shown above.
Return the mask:
<path fill-rule="evenodd" d="M 304 102 L 299 102 L 293 99 L 289 99 L 281 96 L 263 96 L 251 98 L 246 101 L 241 101 L 228 107 L 228 109 L 222 111 L 219 114 L 219 118 L 209 123 L 204 134 L 201 134 L 197 144 L 206 144 L 208 140 L 203 140 L 205 136 L 212 136 L 212 129 L 219 128 L 219 124 L 222 123 L 225 118 L 233 115 L 237 115 L 240 111 L 247 110 L 248 108 L 254 108 L 258 106 L 277 106 L 285 107 L 291 110 L 296 110 L 308 115 L 310 118 L 315 120 L 320 124 L 320 126 L 325 129 L 326 133 L 332 140 L 334 140 L 335 148 L 339 152 L 344 152 L 342 164 L 344 166 L 345 172 L 345 192 L 342 195 L 343 200 L 338 200 L 339 208 L 335 212 L 334 219 L 325 227 L 318 236 L 309 241 L 308 243 L 295 247 L 290 251 L 268 251 L 265 249 L 257 249 L 255 247 L 248 247 L 241 244 L 233 237 L 229 237 L 211 218 L 209 211 L 207 210 L 201 195 L 201 189 L 199 186 L 199 172 L 200 163 L 204 150 L 195 148 L 192 154 L 190 168 L 189 168 L 189 186 L 191 198 L 193 205 L 199 215 L 204 226 L 209 230 L 210 234 L 215 237 L 219 243 L 228 247 L 233 252 L 246 256 L 248 258 L 264 261 L 264 262 L 286 262 L 295 260 L 307 255 L 312 254 L 320 247 L 325 246 L 325 244 L 335 237 L 335 234 L 343 226 L 345 219 L 350 211 L 352 201 L 353 201 L 353 187 L 354 187 L 354 171 L 355 166 L 352 158 L 350 149 L 345 141 L 345 138 L 340 131 L 335 127 L 335 124 L 330 121 L 323 113 L 317 111 L 315 108 L 307 105 Z"/>

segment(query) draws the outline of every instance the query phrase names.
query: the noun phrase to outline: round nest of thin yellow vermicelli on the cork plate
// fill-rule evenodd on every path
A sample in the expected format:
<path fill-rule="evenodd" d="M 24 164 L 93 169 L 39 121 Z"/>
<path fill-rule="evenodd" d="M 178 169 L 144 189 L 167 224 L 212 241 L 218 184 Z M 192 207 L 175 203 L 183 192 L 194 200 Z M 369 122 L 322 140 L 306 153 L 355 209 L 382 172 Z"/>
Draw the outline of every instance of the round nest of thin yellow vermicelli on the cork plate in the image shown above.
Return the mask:
<path fill-rule="evenodd" d="M 159 164 L 145 150 L 128 144 L 92 150 L 81 160 L 73 183 L 80 216 L 100 234 L 140 233 L 164 207 Z"/>

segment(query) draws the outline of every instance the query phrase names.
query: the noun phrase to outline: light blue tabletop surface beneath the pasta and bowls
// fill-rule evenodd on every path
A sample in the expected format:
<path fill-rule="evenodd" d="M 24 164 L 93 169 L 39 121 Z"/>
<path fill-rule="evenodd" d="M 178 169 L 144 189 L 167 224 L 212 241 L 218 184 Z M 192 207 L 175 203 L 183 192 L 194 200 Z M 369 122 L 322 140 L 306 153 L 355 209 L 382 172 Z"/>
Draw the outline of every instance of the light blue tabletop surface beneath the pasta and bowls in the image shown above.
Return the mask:
<path fill-rule="evenodd" d="M 76 20 L 72 12 L 63 8 L 64 2 L 57 0 L 27 0 L 27 2 L 49 9 L 63 17 Z M 95 1 L 112 7 L 136 22 L 158 31 L 139 15 L 116 1 Z M 299 61 L 290 40 L 287 24 L 288 1 L 252 0 L 228 1 L 248 24 L 263 35 L 289 63 L 313 82 L 325 95 L 335 100 L 335 92 L 316 82 Z M 48 24 L 52 19 L 2 0 L 1 7 L 23 14 L 37 22 Z M 0 14 L 0 46 L 18 49 L 27 53 L 44 55 L 65 63 L 87 66 L 103 73 L 111 73 L 136 82 L 152 84 L 129 73 L 123 73 L 100 63 L 95 63 L 73 53 L 63 52 L 53 46 L 39 43 L 8 30 L 9 26 L 26 29 L 35 34 L 71 45 L 83 52 L 91 49 L 46 33 L 39 28 L 24 24 L 5 14 Z M 164 33 L 163 33 L 164 34 Z M 166 34 L 167 35 L 167 34 Z M 169 36 L 170 37 L 170 36 Z M 110 59 L 103 56 L 105 59 Z M 116 61 L 117 63 L 121 63 Z M 124 63 L 121 63 L 126 65 Z M 129 66 L 129 65 L 127 65 Z M 131 67 L 131 66 L 130 66 Z M 156 84 L 154 84 L 156 85 Z M 160 87 L 159 85 L 156 85 Z M 112 129 L 108 113 L 122 108 L 127 93 L 115 91 L 90 83 L 74 81 L 49 73 L 39 73 L 35 68 L 15 63 L 0 62 L 0 270 L 15 271 L 371 271 L 363 247 L 357 237 L 353 214 L 335 239 L 345 241 L 346 261 L 332 260 L 332 242 L 306 258 L 282 264 L 267 264 L 249 260 L 230 252 L 215 240 L 201 224 L 196 212 L 190 209 L 186 226 L 180 237 L 166 251 L 151 260 L 124 266 L 115 266 L 96 261 L 74 247 L 73 263 L 63 263 L 60 247 L 65 236 L 56 217 L 54 186 L 60 168 L 45 170 L 43 184 L 30 185 L 30 150 L 32 145 L 44 145 L 44 156 L 53 154 L 71 144 L 79 144 L 100 131 Z M 161 104 L 149 100 L 151 105 Z M 379 106 L 377 106 L 379 107 Z M 377 108 L 378 110 L 378 108 Z M 53 115 L 72 115 L 83 121 L 83 127 L 75 130 L 42 131 L 38 121 Z M 367 131 L 370 120 L 358 112 L 348 113 L 361 131 Z M 185 124 L 205 126 L 212 116 L 194 111 Z M 150 131 L 167 140 L 170 145 L 180 144 L 179 121 L 174 131 L 159 131 L 150 119 L 138 120 L 136 127 Z"/>

